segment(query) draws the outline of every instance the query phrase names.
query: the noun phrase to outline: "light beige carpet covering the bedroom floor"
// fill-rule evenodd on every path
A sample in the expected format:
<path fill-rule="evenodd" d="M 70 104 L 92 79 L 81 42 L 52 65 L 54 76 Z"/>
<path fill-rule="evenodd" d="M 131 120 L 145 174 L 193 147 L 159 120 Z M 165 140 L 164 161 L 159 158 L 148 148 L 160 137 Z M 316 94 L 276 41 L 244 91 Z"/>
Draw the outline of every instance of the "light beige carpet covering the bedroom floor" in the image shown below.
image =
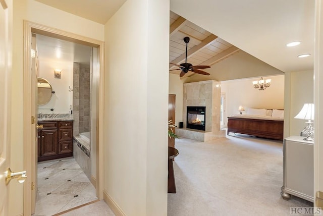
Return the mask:
<path fill-rule="evenodd" d="M 176 139 L 177 193 L 168 194 L 168 215 L 290 215 L 313 203 L 281 195 L 283 142 L 246 135 L 210 142 Z"/>

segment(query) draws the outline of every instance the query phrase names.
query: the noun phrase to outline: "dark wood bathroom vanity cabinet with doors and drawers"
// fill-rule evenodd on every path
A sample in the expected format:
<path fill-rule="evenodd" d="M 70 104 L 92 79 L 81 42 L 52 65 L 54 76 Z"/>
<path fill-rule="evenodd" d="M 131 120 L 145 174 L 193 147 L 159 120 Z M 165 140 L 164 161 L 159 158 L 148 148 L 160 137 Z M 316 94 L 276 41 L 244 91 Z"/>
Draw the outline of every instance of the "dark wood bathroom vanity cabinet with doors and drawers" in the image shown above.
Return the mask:
<path fill-rule="evenodd" d="M 39 122 L 38 161 L 73 156 L 73 121 Z"/>

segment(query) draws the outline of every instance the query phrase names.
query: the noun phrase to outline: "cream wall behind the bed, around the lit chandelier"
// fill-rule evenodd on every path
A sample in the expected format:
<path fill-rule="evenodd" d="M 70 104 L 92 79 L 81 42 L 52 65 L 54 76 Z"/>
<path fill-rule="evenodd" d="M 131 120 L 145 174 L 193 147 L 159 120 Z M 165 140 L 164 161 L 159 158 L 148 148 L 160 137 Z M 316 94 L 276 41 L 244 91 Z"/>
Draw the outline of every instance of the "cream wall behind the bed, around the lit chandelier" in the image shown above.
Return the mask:
<path fill-rule="evenodd" d="M 240 105 L 244 106 L 246 111 L 248 108 L 284 109 L 284 75 L 263 77 L 272 79 L 271 86 L 265 90 L 253 87 L 252 81 L 258 79 L 260 77 L 221 82 L 221 92 L 226 94 L 225 121 L 228 116 L 239 114 Z"/>

